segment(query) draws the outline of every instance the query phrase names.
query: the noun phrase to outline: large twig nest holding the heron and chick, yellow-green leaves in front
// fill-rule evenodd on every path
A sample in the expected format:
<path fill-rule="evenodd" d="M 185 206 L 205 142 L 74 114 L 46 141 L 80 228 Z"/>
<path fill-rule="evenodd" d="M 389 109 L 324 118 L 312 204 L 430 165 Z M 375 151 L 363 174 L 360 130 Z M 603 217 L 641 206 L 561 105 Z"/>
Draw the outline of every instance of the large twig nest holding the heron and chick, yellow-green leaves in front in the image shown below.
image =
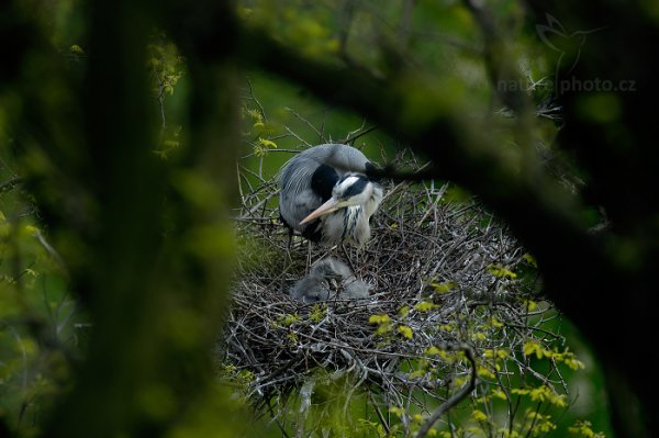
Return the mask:
<path fill-rule="evenodd" d="M 409 153 L 396 161 L 420 167 Z M 350 375 L 350 388 L 375 394 L 378 401 L 369 400 L 378 405 L 427 403 L 418 394 L 442 403 L 455 392 L 451 383 L 476 372 L 455 350 L 472 351 L 480 368 L 498 373 L 484 351 L 514 355 L 548 308 L 529 323 L 528 300 L 537 297 L 522 277 L 533 260 L 474 199 L 449 201 L 448 184 L 384 182 L 365 248 L 322 248 L 301 237 L 289 248 L 275 179 L 243 180 L 222 361 L 248 372 L 247 396 L 261 406 L 303 389 L 319 369 Z M 304 304 L 288 295 L 328 256 L 372 285 L 368 300 Z"/>

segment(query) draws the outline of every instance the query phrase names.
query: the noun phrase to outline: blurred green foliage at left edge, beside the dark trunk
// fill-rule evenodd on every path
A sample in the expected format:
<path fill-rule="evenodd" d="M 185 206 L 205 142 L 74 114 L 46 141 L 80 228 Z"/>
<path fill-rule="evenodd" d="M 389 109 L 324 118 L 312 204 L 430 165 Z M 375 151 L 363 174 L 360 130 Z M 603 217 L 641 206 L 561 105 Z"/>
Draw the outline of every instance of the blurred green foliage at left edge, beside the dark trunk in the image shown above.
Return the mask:
<path fill-rule="evenodd" d="M 10 158 L 1 162 L 0 420 L 33 436 L 67 388 L 69 361 L 88 328 L 68 291 L 63 260 L 37 227 L 36 205 Z"/>

